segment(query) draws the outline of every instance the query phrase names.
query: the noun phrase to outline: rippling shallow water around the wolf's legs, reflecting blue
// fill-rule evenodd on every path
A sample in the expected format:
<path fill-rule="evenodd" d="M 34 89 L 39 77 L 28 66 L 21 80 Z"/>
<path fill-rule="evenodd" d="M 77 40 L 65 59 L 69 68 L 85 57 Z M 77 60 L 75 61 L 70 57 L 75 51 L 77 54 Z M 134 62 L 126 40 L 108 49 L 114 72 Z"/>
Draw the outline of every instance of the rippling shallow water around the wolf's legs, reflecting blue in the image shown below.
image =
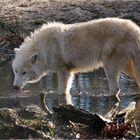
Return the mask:
<path fill-rule="evenodd" d="M 13 90 L 14 75 L 11 64 L 0 67 L 0 108 L 15 106 L 15 91 Z M 140 89 L 128 77 L 122 75 L 120 80 L 121 87 L 121 108 L 125 108 L 130 102 L 136 102 L 135 119 L 140 133 Z M 57 94 L 57 76 L 50 73 L 41 81 L 25 87 L 20 95 L 23 105 L 40 105 L 39 93 L 47 92 L 47 105 L 51 108 L 59 103 L 72 102 L 90 112 L 105 115 L 116 103 L 115 97 L 108 95 L 108 82 L 103 70 L 94 73 L 78 74 L 75 76 L 71 96 Z"/>

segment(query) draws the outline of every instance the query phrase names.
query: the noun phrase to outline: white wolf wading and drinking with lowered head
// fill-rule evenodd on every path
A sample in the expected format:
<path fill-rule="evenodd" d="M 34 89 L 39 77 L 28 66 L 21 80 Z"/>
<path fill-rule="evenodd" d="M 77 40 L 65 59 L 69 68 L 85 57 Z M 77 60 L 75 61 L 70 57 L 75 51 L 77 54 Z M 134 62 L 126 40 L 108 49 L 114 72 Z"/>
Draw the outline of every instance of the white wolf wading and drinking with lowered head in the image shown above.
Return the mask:
<path fill-rule="evenodd" d="M 58 75 L 60 93 L 69 93 L 72 76 L 103 67 L 111 94 L 119 91 L 124 72 L 140 86 L 140 28 L 119 18 L 84 23 L 48 23 L 15 49 L 14 88 L 38 81 L 47 72 Z"/>

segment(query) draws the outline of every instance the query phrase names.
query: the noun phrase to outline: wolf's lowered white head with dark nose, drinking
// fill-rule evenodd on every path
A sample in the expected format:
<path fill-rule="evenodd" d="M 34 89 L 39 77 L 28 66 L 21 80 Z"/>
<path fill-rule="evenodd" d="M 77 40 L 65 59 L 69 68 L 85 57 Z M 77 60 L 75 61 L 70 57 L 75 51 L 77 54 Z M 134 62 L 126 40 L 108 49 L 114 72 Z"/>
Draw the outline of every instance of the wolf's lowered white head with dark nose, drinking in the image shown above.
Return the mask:
<path fill-rule="evenodd" d="M 27 83 L 35 83 L 40 80 L 46 74 L 40 63 L 38 53 L 31 54 L 26 49 L 15 48 L 15 59 L 12 63 L 15 74 L 14 88 L 20 90 Z"/>

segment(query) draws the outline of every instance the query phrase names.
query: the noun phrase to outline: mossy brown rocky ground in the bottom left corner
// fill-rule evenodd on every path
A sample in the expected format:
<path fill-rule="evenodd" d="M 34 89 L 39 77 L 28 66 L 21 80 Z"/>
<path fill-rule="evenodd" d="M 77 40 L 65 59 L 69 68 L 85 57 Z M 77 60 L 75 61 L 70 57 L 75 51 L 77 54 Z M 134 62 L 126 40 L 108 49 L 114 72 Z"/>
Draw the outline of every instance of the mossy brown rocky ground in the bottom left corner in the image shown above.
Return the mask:
<path fill-rule="evenodd" d="M 37 106 L 0 109 L 0 139 L 49 138 L 52 122 Z"/>

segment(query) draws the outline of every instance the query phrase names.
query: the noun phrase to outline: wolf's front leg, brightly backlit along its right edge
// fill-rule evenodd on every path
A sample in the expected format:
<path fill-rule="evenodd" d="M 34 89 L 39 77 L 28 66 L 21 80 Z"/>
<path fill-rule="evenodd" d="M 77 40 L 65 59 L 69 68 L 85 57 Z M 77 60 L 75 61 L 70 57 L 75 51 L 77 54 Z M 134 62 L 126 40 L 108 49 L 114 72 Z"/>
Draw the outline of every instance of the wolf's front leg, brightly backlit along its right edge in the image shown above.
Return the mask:
<path fill-rule="evenodd" d="M 57 72 L 58 90 L 61 94 L 69 94 L 73 80 L 73 73 L 63 68 Z"/>

